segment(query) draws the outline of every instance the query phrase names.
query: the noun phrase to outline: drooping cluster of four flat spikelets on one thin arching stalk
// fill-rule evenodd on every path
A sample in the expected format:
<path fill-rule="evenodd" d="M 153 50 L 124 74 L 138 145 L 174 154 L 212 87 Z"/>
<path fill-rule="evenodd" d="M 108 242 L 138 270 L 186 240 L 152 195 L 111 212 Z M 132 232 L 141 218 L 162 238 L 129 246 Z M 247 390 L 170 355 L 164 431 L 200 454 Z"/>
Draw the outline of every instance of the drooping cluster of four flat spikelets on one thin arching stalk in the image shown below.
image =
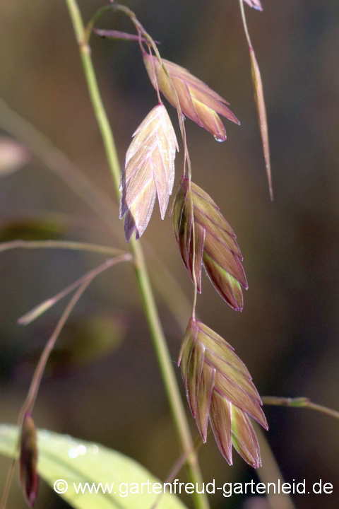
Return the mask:
<path fill-rule="evenodd" d="M 218 114 L 238 122 L 227 107 L 227 102 L 189 71 L 162 60 L 154 41 L 136 16 L 125 6 L 116 8 L 131 18 L 139 35 L 139 45 L 146 70 L 155 90 L 158 105 L 138 127 L 126 154 L 125 168 L 121 177 L 123 191 L 120 201 L 120 218 L 125 218 L 125 235 L 129 241 L 133 230 L 136 240 L 142 235 L 152 213 L 155 197 L 160 204 L 162 218 L 167 208 L 174 180 L 175 135 L 167 112 L 160 99 L 160 91 L 169 103 L 177 107 L 184 141 L 184 161 L 189 160 L 186 132 L 182 113 L 201 127 L 210 131 L 215 139 L 226 139 L 225 128 Z M 100 12 L 100 11 L 99 11 Z M 98 15 L 88 24 L 86 44 L 90 30 Z M 155 52 L 145 52 L 141 37 Z M 160 157 L 159 154 L 162 154 Z M 251 377 L 237 356 L 227 361 L 232 348 L 226 344 L 220 353 L 222 338 L 212 329 L 197 322 L 196 298 L 201 292 L 201 267 L 210 276 L 220 296 L 234 310 L 242 310 L 242 289 L 247 288 L 242 267 L 242 254 L 232 228 L 221 215 L 218 206 L 200 187 L 184 176 L 174 199 L 174 233 L 179 243 L 182 259 L 194 282 L 194 303 L 189 326 L 182 343 L 182 375 L 191 411 L 198 424 L 203 441 L 206 441 L 208 421 L 215 439 L 227 462 L 232 464 L 232 445 L 253 467 L 261 465 L 258 440 L 251 426 L 256 419 L 264 428 L 267 423 L 261 410 L 261 399 L 251 382 Z M 201 330 L 201 334 L 198 333 Z M 210 345 L 211 338 L 214 344 Z M 209 346 L 207 346 L 209 345 Z M 214 361 L 205 362 L 205 351 L 215 351 Z M 218 353 L 220 353 L 220 356 Z M 225 356 L 225 359 L 223 358 Z M 220 359 L 220 358 L 221 359 Z M 219 358 L 219 360 L 218 360 Z M 220 360 L 228 365 L 220 365 Z M 236 366 L 236 367 L 234 367 Z"/>

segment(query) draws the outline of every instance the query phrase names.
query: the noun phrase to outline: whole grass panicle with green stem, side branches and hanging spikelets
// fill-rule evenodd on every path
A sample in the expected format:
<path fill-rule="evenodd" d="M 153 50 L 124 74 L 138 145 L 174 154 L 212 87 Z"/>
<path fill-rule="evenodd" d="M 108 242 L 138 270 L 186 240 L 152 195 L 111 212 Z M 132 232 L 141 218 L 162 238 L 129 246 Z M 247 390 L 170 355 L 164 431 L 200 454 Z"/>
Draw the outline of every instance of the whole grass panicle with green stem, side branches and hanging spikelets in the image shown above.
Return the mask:
<path fill-rule="evenodd" d="M 111 0 L 112 3 L 113 0 Z M 266 109 L 263 100 L 263 86 L 261 75 L 256 62 L 253 47 L 249 39 L 246 20 L 244 17 L 244 5 L 246 2 L 252 8 L 262 10 L 260 0 L 240 0 L 242 18 L 251 56 L 252 76 L 255 86 L 256 102 L 258 105 L 258 117 L 263 139 L 266 169 L 272 193 L 270 180 L 270 156 L 268 147 L 268 131 Z M 184 145 L 184 175 L 179 182 L 179 188 L 173 205 L 174 234 L 179 244 L 179 250 L 186 268 L 189 270 L 194 282 L 194 305 L 189 325 L 186 329 L 182 347 L 179 353 L 178 364 L 181 365 L 186 395 L 191 412 L 196 419 L 198 429 L 203 442 L 206 442 L 208 422 L 215 435 L 215 440 L 222 455 L 229 464 L 232 464 L 232 445 L 243 459 L 253 467 L 261 466 L 260 450 L 256 433 L 251 424 L 251 419 L 256 420 L 263 428 L 268 428 L 266 417 L 261 409 L 261 398 L 251 381 L 246 366 L 234 353 L 232 346 L 222 339 L 212 329 L 196 320 L 196 296 L 201 293 L 201 267 L 204 266 L 210 280 L 220 296 L 234 309 L 242 311 L 243 295 L 242 288 L 247 289 L 246 276 L 242 267 L 242 254 L 237 245 L 236 236 L 230 225 L 220 213 L 220 209 L 213 199 L 196 184 L 191 182 L 191 162 L 186 144 L 186 130 L 184 115 L 192 119 L 200 127 L 209 131 L 218 141 L 227 138 L 225 127 L 219 115 L 239 124 L 239 120 L 228 107 L 229 103 L 218 93 L 211 90 L 203 81 L 192 76 L 183 67 L 163 60 L 157 49 L 156 42 L 148 35 L 135 14 L 126 6 L 114 4 L 99 9 L 93 19 L 84 29 L 83 21 L 76 0 L 66 0 L 73 21 L 73 28 L 79 43 L 81 58 L 85 76 L 88 81 L 90 97 L 93 101 L 97 121 L 105 143 L 109 166 L 114 177 L 117 195 L 121 192 L 119 217 L 124 217 L 124 230 L 126 240 L 131 240 L 131 251 L 134 255 L 136 275 L 141 290 L 141 296 L 145 306 L 145 315 L 148 318 L 150 332 L 157 351 L 163 379 L 169 395 L 174 421 L 177 425 L 182 448 L 189 465 L 189 476 L 192 481 L 201 481 L 201 474 L 196 462 L 194 447 L 186 423 L 182 400 L 179 397 L 178 388 L 162 327 L 157 316 L 157 309 L 153 293 L 148 281 L 148 273 L 145 268 L 143 252 L 139 243 L 134 242 L 132 237 L 136 231 L 136 240 L 143 235 L 148 226 L 153 212 L 155 198 L 160 205 L 160 214 L 165 218 L 169 196 L 172 194 L 174 185 L 174 159 L 176 151 L 179 151 L 177 138 L 165 106 L 160 99 L 160 92 L 174 107 L 177 108 L 180 131 Z M 133 22 L 137 35 L 124 33 L 119 30 L 95 29 L 95 21 L 109 10 L 124 12 Z M 105 109 L 102 105 L 100 93 L 97 88 L 95 73 L 90 57 L 89 40 L 90 34 L 95 30 L 101 37 L 138 41 L 143 54 L 145 67 L 150 81 L 157 90 L 158 105 L 145 117 L 141 125 L 133 134 L 125 158 L 124 169 L 121 173 L 117 151 L 114 145 L 112 131 Z M 149 54 L 145 52 L 146 45 Z M 155 55 L 153 55 L 153 53 Z M 1 140 L 0 140 L 1 141 Z M 18 151 L 17 151 L 18 152 Z M 20 154 L 16 154 L 18 157 Z M 21 154 L 18 167 L 25 162 L 27 154 Z M 55 157 L 55 154 L 54 154 Z M 19 158 L 20 159 L 20 158 Z M 48 160 L 49 158 L 47 158 Z M 17 168 L 11 162 L 2 168 L 8 172 Z M 57 165 L 59 168 L 59 164 Z M 0 160 L 1 167 L 1 160 Z M 186 178 L 186 167 L 188 178 Z M 9 168 L 9 169 L 8 169 Z M 1 170 L 1 168 L 0 168 Z M 59 171 L 59 170 L 58 170 Z M 67 180 L 65 178 L 65 180 Z M 81 180 L 83 182 L 83 180 Z M 78 185 L 75 186 L 77 191 Z M 83 192 L 83 188 L 80 194 Z M 96 207 L 97 209 L 97 207 Z M 101 208 L 99 207 L 101 210 Z M 105 213 L 104 213 L 105 216 Z M 34 242 L 33 242 L 34 243 Z M 31 248 L 32 242 L 18 241 L 16 245 L 6 243 L 1 246 L 2 250 L 13 247 Z M 62 244 L 62 246 L 61 246 Z M 97 252 L 112 253 L 112 249 L 102 246 L 90 246 L 76 242 L 59 242 L 59 247 L 71 247 L 71 249 L 95 250 Z M 38 247 L 36 244 L 34 247 Z M 43 247 L 40 245 L 40 247 Z M 47 247 L 47 245 L 44 245 Z M 50 247 L 50 246 L 49 246 Z M 54 242 L 54 247 L 57 243 Z M 0 249 L 0 250 L 1 250 Z M 115 250 L 117 251 L 117 250 Z M 117 252 L 115 252 L 117 254 Z M 27 324 L 40 316 L 71 291 L 76 290 L 64 314 L 61 316 L 52 337 L 42 352 L 42 356 L 35 370 L 28 397 L 21 409 L 19 416 L 20 435 L 20 482 L 28 504 L 32 507 L 37 496 L 39 476 L 37 475 L 37 440 L 35 425 L 32 421 L 31 412 L 40 387 L 44 368 L 52 351 L 55 341 L 61 332 L 73 306 L 81 297 L 85 288 L 97 274 L 105 271 L 108 267 L 119 261 L 131 260 L 131 255 L 122 254 L 116 259 L 110 259 L 97 267 L 81 279 L 75 281 L 64 291 L 61 291 L 37 306 L 20 319 L 20 323 Z M 13 467 L 8 476 L 8 484 L 5 488 L 1 509 L 6 505 L 9 485 Z M 195 498 L 196 507 L 208 509 L 208 501 L 204 496 Z"/>

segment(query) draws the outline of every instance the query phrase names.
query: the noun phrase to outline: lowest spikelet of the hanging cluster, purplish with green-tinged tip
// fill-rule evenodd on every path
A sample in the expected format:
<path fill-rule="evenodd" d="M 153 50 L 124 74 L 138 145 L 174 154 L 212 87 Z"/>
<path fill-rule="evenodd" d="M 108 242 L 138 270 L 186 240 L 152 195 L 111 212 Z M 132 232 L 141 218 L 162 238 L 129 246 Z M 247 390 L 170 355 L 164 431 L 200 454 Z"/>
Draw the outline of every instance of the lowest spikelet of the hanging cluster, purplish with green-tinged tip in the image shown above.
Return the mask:
<path fill-rule="evenodd" d="M 260 467 L 260 449 L 251 419 L 265 429 L 268 425 L 251 375 L 232 346 L 191 317 L 178 365 L 203 442 L 210 421 L 215 441 L 229 464 L 233 445 L 247 463 Z"/>

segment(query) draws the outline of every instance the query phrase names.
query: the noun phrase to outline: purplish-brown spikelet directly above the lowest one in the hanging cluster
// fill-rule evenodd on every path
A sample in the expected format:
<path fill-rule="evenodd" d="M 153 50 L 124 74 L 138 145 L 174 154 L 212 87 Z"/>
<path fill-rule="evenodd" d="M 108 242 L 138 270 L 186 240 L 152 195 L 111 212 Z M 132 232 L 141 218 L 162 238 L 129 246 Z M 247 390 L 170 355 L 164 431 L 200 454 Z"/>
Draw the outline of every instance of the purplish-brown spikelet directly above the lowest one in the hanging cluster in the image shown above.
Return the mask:
<path fill-rule="evenodd" d="M 198 292 L 201 293 L 203 264 L 220 296 L 234 310 L 242 311 L 242 287 L 248 288 L 242 267 L 242 253 L 234 231 L 220 213 L 219 207 L 194 182 L 191 182 L 189 189 L 189 180 L 182 177 L 172 215 L 174 235 L 182 259 L 193 281 L 195 271 Z"/>

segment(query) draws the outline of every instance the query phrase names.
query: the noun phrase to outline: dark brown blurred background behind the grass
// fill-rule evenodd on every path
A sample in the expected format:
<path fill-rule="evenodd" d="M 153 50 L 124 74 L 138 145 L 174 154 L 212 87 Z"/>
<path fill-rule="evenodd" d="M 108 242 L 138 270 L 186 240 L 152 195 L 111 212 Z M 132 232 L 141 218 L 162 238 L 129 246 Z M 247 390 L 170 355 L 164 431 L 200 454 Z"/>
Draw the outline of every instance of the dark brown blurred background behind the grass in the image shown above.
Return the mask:
<path fill-rule="evenodd" d="M 102 5 L 97 0 L 79 3 L 85 20 Z M 244 312 L 237 314 L 205 277 L 198 298 L 201 319 L 235 347 L 261 394 L 308 396 L 339 409 L 338 1 L 263 4 L 263 13 L 247 7 L 246 13 L 266 93 L 273 203 L 237 1 L 129 1 L 145 28 L 162 42 L 162 56 L 217 90 L 242 122 L 241 127 L 225 122 L 224 144 L 186 122 L 194 180 L 220 205 L 237 233 L 249 281 Z M 131 30 L 122 16 L 107 15 L 99 25 Z M 155 105 L 156 95 L 138 45 L 93 37 L 92 51 L 122 162 L 131 134 Z M 114 198 L 64 1 L 1 2 L 0 95 Z M 170 114 L 176 122 L 174 110 Z M 182 151 L 177 161 L 179 175 Z M 113 238 L 35 160 L 1 179 L 0 214 L 1 240 L 32 235 L 27 226 L 38 221 L 38 238 L 53 233 L 54 238 L 124 245 L 121 235 Z M 157 206 L 144 239 L 191 299 L 193 288 L 171 221 L 160 221 Z M 26 328 L 18 327 L 17 318 L 101 259 L 73 252 L 1 254 L 0 421 L 16 422 L 39 353 L 64 303 Z M 156 277 L 161 284 L 162 275 Z M 177 303 L 179 297 L 173 294 L 171 299 Z M 158 293 L 157 302 L 175 361 L 182 332 Z M 179 307 L 184 315 L 185 308 Z M 179 380 L 179 370 L 177 375 Z M 297 496 L 297 508 L 338 507 L 338 421 L 307 409 L 270 407 L 266 415 L 267 437 L 285 480 L 333 483 L 332 495 Z M 39 427 L 131 455 L 162 479 L 179 455 L 130 267 L 115 267 L 98 278 L 76 307 L 44 376 L 35 420 Z M 190 415 L 189 421 L 196 435 Z M 212 437 L 199 456 L 206 481 L 216 479 L 221 486 L 256 479 L 235 453 L 234 466 L 228 467 Z M 7 466 L 1 460 L 1 486 Z M 10 505 L 25 507 L 17 484 Z M 225 501 L 220 493 L 210 503 L 213 509 L 259 507 L 240 496 Z M 44 487 L 37 509 L 47 505 L 66 507 Z"/>

